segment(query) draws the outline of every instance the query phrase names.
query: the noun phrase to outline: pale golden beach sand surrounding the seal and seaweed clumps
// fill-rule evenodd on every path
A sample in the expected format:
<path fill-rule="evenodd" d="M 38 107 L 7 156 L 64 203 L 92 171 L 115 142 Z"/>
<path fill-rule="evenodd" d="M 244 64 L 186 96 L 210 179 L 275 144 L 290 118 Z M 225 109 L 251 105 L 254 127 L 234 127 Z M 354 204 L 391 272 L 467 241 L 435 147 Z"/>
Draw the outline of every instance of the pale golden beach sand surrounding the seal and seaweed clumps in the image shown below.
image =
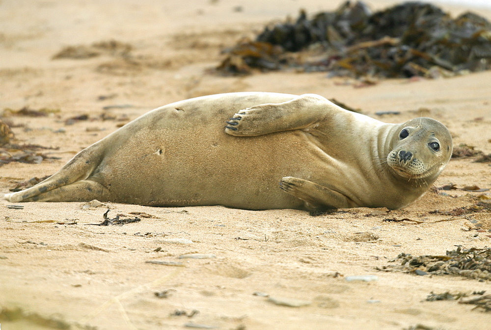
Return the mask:
<path fill-rule="evenodd" d="M 367 3 L 376 10 L 396 2 Z M 226 92 L 315 93 L 387 123 L 432 117 L 449 128 L 454 146 L 491 153 L 491 72 L 386 79 L 361 88 L 355 79 L 326 73 L 213 72 L 223 49 L 266 24 L 295 18 L 300 8 L 313 14 L 339 4 L 1 0 L 1 119 L 12 126 L 15 143 L 52 149 L 38 151 L 45 158 L 38 164 L 0 165 L 0 196 L 18 182 L 52 175 L 151 109 Z M 452 15 L 465 10 L 442 8 Z M 491 10 L 479 14 L 491 20 Z M 75 46 L 82 58 L 55 58 Z M 23 108 L 44 115 L 16 114 Z M 1 199 L 1 329 L 490 329 L 491 313 L 482 308 L 426 301 L 432 292 L 489 294 L 489 280 L 378 270 L 401 253 L 445 255 L 458 245 L 491 245 L 491 214 L 476 207 L 490 191 L 462 189 L 491 188 L 490 163 L 475 159 L 452 159 L 436 182 L 457 189 L 429 191 L 401 210 L 312 216 L 119 203 L 12 209 Z M 108 209 L 109 218 L 140 221 L 94 226 Z M 180 258 L 192 254 L 200 258 Z M 377 280 L 346 280 L 358 275 Z M 271 297 L 305 305 L 277 305 Z"/>

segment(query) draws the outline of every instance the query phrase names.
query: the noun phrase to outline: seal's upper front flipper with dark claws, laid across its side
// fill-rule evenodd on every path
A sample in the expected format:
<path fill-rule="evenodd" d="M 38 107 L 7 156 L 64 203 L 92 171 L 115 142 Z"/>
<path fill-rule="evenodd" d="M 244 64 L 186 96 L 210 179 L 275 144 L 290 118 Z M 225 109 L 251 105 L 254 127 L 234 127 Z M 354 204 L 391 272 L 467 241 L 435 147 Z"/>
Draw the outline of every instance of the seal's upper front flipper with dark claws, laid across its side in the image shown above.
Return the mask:
<path fill-rule="evenodd" d="M 257 136 L 314 125 L 326 117 L 328 101 L 304 94 L 283 103 L 267 103 L 239 110 L 226 121 L 225 132 L 235 136 Z"/>

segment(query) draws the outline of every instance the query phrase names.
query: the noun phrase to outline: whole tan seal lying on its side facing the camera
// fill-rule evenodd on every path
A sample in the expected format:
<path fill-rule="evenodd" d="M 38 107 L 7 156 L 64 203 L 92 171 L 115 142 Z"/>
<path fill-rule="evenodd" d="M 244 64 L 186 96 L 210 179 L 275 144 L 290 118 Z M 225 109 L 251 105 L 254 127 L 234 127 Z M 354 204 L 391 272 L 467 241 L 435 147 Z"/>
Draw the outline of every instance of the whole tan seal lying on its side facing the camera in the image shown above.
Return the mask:
<path fill-rule="evenodd" d="M 313 94 L 218 94 L 152 110 L 5 199 L 397 209 L 451 153 L 450 132 L 431 118 L 386 124 Z"/>

